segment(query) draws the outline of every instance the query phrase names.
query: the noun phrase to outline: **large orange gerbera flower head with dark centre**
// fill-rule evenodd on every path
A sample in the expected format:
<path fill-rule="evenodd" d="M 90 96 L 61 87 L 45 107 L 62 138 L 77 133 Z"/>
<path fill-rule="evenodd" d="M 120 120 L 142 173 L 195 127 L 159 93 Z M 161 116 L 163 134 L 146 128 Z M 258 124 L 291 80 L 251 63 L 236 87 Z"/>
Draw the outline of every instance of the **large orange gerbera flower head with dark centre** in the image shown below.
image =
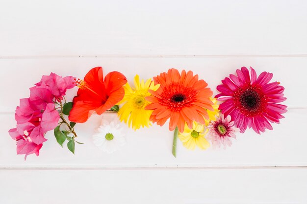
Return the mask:
<path fill-rule="evenodd" d="M 145 108 L 153 110 L 150 117 L 153 122 L 162 126 L 170 118 L 170 131 L 178 127 L 181 133 L 185 122 L 190 129 L 193 121 L 205 124 L 204 117 L 209 118 L 205 109 L 213 111 L 213 103 L 209 98 L 213 92 L 206 88 L 204 80 L 198 80 L 198 75 L 193 76 L 192 71 L 182 70 L 180 75 L 175 68 L 153 77 L 153 80 L 155 84 L 160 84 L 160 88 L 157 91 L 149 90 L 153 96 L 146 99 L 152 104 Z"/>

